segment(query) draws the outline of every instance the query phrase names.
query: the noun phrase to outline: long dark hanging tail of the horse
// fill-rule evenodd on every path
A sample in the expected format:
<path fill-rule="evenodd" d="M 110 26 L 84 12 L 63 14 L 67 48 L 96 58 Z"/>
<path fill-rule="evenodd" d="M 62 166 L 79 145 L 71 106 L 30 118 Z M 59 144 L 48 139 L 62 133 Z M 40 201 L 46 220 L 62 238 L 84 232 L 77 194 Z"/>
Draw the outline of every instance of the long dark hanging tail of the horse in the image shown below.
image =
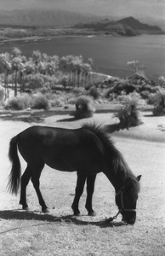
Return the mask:
<path fill-rule="evenodd" d="M 20 159 L 17 151 L 18 136 L 11 139 L 9 143 L 9 160 L 12 163 L 11 172 L 9 173 L 8 190 L 10 193 L 17 195 L 20 188 Z"/>

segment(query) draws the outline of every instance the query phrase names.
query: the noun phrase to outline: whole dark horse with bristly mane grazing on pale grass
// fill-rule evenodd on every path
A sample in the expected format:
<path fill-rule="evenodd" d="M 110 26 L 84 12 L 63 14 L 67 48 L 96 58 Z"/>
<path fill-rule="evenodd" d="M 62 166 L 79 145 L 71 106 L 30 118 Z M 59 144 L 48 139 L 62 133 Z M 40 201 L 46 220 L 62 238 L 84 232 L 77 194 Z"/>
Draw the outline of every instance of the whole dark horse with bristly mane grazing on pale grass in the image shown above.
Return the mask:
<path fill-rule="evenodd" d="M 17 147 L 27 163 L 26 171 L 21 177 L 21 185 Z M 134 224 L 140 176 L 135 177 L 130 171 L 122 154 L 115 148 L 105 129 L 100 125 L 88 124 L 75 130 L 31 126 L 11 139 L 9 160 L 12 162 L 9 191 L 17 194 L 20 188 L 20 204 L 23 209 L 28 208 L 26 186 L 31 179 L 42 211 L 48 212 L 48 207 L 39 189 L 39 178 L 43 166 L 47 164 L 63 172 L 77 172 L 76 195 L 71 206 L 75 215 L 80 214 L 78 202 L 83 194 L 86 180 L 85 207 L 88 215 L 94 214 L 92 207 L 94 181 L 97 173 L 104 172 L 116 190 L 116 203 L 118 213 L 122 213 L 122 220 L 128 224 Z"/>

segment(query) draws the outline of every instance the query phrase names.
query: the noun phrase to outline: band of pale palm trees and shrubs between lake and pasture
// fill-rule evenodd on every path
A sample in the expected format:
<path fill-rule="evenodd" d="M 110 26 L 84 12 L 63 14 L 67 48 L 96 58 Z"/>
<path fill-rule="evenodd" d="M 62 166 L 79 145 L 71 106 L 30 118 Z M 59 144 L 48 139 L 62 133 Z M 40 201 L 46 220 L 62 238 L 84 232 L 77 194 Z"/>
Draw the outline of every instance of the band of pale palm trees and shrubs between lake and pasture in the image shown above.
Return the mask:
<path fill-rule="evenodd" d="M 7 100 L 4 108 L 25 109 L 62 107 L 76 102 L 75 118 L 91 117 L 94 109 L 92 101 L 106 102 L 120 98 L 122 105 L 117 109 L 116 117 L 123 127 L 139 125 L 137 104 L 139 96 L 154 105 L 155 115 L 164 115 L 165 79 L 160 77 L 158 84 L 146 78 L 145 67 L 139 61 L 128 61 L 134 74 L 126 79 L 109 78 L 92 72 L 94 61 L 83 56 L 42 54 L 34 50 L 29 58 L 14 48 L 0 55 L 0 73 L 4 89 L 0 90 L 0 102 Z M 9 99 L 13 89 L 14 98 Z M 63 96 L 58 95 L 61 90 Z M 64 92 L 71 91 L 70 95 Z M 161 92 L 162 91 L 162 92 Z M 18 92 L 20 95 L 18 96 Z M 25 92 L 31 95 L 25 95 Z"/>

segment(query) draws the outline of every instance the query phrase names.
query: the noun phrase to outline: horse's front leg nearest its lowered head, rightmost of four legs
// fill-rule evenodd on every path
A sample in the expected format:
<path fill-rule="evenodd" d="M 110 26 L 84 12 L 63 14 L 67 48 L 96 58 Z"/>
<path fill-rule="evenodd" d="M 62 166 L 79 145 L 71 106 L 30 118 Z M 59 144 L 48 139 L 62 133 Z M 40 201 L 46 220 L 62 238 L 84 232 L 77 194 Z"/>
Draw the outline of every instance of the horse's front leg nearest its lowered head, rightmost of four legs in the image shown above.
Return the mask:
<path fill-rule="evenodd" d="M 96 174 L 90 175 L 87 177 L 87 200 L 85 207 L 88 211 L 89 216 L 94 216 L 94 210 L 92 207 L 92 197 L 94 194 L 94 182 L 95 182 Z"/>

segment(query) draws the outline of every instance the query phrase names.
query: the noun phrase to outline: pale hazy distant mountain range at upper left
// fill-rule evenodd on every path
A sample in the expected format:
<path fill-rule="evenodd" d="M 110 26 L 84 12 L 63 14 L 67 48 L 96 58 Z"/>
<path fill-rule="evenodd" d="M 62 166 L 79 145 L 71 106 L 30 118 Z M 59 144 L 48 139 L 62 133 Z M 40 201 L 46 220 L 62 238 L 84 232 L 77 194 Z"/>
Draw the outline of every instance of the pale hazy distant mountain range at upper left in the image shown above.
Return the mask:
<path fill-rule="evenodd" d="M 24 9 L 0 11 L 0 25 L 61 27 L 94 20 L 98 20 L 94 15 L 82 15 L 63 10 Z"/>

